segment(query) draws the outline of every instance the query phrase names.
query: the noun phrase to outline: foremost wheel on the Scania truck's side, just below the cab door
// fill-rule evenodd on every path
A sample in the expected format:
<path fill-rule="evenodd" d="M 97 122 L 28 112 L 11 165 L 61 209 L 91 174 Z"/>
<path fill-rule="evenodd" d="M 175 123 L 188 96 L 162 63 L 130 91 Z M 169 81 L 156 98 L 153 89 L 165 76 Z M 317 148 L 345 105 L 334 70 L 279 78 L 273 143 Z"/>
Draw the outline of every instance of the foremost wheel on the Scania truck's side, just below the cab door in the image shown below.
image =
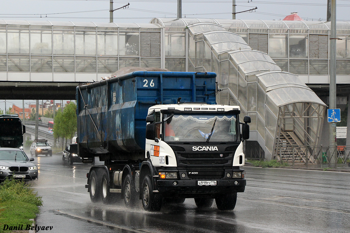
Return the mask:
<path fill-rule="evenodd" d="M 153 192 L 151 176 L 146 175 L 142 182 L 142 206 L 148 211 L 159 211 L 162 207 L 162 196 Z"/>

